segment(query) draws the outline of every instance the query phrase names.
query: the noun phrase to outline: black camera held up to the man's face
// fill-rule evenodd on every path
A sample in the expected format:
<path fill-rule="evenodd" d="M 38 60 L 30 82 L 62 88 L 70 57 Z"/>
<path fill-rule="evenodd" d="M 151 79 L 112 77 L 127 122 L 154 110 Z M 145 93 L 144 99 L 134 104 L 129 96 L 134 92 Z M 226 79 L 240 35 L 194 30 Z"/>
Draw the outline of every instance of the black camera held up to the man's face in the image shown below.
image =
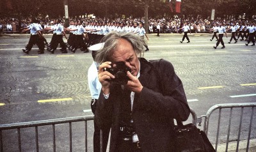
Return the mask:
<path fill-rule="evenodd" d="M 116 62 L 115 67 L 111 65 L 111 68 L 106 68 L 106 71 L 115 76 L 115 79 L 111 79 L 111 82 L 117 82 L 118 84 L 127 84 L 129 77 L 127 72 L 131 72 L 131 68 L 127 67 L 124 62 Z"/>

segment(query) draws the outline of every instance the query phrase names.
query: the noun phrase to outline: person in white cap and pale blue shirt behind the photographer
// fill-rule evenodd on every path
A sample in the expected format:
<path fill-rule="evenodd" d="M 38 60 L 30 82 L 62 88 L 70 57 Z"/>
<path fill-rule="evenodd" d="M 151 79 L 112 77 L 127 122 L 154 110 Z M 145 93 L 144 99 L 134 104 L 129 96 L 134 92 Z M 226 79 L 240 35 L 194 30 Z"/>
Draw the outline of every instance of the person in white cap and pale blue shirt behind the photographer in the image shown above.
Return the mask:
<path fill-rule="evenodd" d="M 89 50 L 92 51 L 93 63 L 88 69 L 88 86 L 90 89 L 90 94 L 92 96 L 91 100 L 91 109 L 93 114 L 95 114 L 95 109 L 97 106 L 97 100 L 100 95 L 101 84 L 98 79 L 98 70 L 99 64 L 95 62 L 95 57 L 97 51 L 102 49 L 104 43 L 98 43 L 89 47 Z M 108 137 L 109 137 L 110 127 L 106 127 L 102 129 L 102 151 L 106 151 L 108 145 Z M 93 151 L 100 152 L 100 128 L 94 122 L 94 133 L 93 133 Z"/>

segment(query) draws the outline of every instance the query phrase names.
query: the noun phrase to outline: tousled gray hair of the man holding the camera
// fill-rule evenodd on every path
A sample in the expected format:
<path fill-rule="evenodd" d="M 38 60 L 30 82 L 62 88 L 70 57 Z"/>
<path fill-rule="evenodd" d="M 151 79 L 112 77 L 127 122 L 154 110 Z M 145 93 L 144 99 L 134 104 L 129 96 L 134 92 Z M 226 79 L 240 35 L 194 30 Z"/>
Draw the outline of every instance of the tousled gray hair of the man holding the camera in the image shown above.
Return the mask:
<path fill-rule="evenodd" d="M 118 45 L 118 42 L 121 38 L 124 38 L 129 43 L 131 43 L 132 48 L 134 52 L 137 55 L 140 55 L 143 52 L 143 45 L 145 45 L 145 41 L 140 38 L 140 36 L 137 36 L 134 33 L 116 33 L 111 32 L 109 34 L 106 34 L 104 38 L 102 38 L 101 42 L 104 42 L 104 47 L 97 52 L 97 56 L 95 61 L 97 63 L 104 63 L 106 61 L 110 61 L 111 56 L 113 55 L 113 50 Z"/>

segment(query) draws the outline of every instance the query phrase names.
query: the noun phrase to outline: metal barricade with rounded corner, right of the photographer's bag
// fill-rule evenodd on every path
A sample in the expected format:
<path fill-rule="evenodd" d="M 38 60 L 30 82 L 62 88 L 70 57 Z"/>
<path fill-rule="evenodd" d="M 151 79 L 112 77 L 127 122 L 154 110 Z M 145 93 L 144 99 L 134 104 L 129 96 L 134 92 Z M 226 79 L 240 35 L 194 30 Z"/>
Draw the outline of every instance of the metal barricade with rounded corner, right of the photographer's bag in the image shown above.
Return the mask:
<path fill-rule="evenodd" d="M 235 126 L 234 122 L 233 122 L 234 118 L 232 118 L 232 116 L 234 115 L 234 109 L 236 109 L 236 113 L 239 112 L 239 109 L 241 109 L 241 112 L 240 112 L 240 114 L 239 113 L 237 114 L 237 117 L 235 117 L 237 119 L 237 121 L 239 121 L 239 129 L 238 129 L 238 132 L 237 132 L 237 134 L 238 134 L 237 135 L 237 139 L 232 139 L 231 141 L 236 141 L 237 142 L 236 151 L 238 151 L 239 150 L 239 142 L 241 141 L 241 126 L 242 126 L 243 116 L 245 114 L 249 115 L 250 116 L 250 122 L 248 122 L 249 123 L 248 124 L 249 128 L 248 128 L 248 137 L 247 137 L 247 144 L 246 144 L 246 151 L 248 151 L 249 144 L 250 144 L 250 139 L 251 139 L 252 125 L 253 125 L 253 114 L 255 114 L 255 112 L 254 112 L 255 107 L 256 107 L 256 103 L 226 103 L 226 104 L 218 104 L 218 105 L 212 106 L 207 111 L 206 115 L 204 115 L 201 118 L 199 118 L 200 121 L 202 121 L 202 118 L 205 118 L 204 119 L 204 132 L 207 135 L 208 132 L 209 132 L 209 119 L 210 119 L 210 116 L 211 116 L 212 112 L 214 112 L 214 110 L 219 109 L 219 112 L 218 112 L 218 126 L 217 126 L 217 132 L 216 132 L 216 142 L 215 142 L 215 149 L 216 149 L 216 151 L 218 150 L 219 137 L 220 137 L 220 129 L 223 129 L 222 127 L 220 128 L 220 125 L 221 125 L 221 114 L 223 113 L 223 110 L 225 110 L 225 112 L 226 112 L 225 113 L 226 117 L 224 119 L 228 119 L 227 140 L 226 140 L 226 146 L 225 146 L 225 151 L 228 151 L 228 143 L 230 142 L 230 127 L 231 126 Z M 247 111 L 244 111 L 244 108 L 247 108 L 246 109 Z M 228 109 L 229 109 L 229 112 L 228 112 Z M 229 116 L 229 118 L 227 116 Z M 249 121 L 249 119 L 246 119 L 246 120 Z M 243 125 L 244 125 L 244 123 L 243 123 Z M 199 123 L 199 126 L 200 126 L 200 123 Z M 255 130 L 253 130 L 253 131 L 255 131 Z M 244 134 L 246 134 L 246 133 L 244 133 Z M 232 135 L 232 136 L 234 136 L 234 135 Z M 209 137 L 209 135 L 208 135 L 208 137 Z"/>

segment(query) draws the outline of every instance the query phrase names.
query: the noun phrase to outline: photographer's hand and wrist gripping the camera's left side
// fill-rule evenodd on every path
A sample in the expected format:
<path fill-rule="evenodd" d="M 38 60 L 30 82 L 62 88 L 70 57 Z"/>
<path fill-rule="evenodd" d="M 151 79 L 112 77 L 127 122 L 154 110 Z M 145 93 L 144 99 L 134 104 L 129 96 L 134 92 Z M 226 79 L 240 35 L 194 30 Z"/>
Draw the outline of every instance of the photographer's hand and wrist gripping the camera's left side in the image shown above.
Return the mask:
<path fill-rule="evenodd" d="M 111 62 L 104 62 L 99 66 L 98 78 L 99 82 L 102 85 L 102 91 L 104 95 L 109 94 L 109 80 L 115 79 L 115 76 L 109 73 L 108 71 L 104 71 L 105 68 L 111 68 Z"/>

